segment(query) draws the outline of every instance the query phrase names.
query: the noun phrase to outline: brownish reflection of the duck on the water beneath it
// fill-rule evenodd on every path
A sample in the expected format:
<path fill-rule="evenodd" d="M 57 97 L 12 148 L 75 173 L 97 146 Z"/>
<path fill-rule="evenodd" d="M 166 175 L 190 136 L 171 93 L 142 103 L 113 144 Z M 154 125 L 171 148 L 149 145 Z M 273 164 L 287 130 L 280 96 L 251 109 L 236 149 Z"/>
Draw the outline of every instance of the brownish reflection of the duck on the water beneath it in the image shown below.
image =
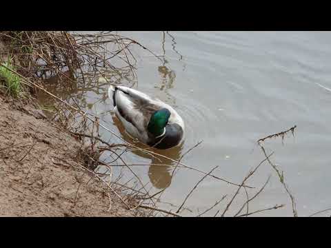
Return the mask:
<path fill-rule="evenodd" d="M 126 134 L 126 131 L 122 125 L 122 123 L 118 120 L 118 118 L 113 117 L 114 123 L 119 127 L 119 132 L 121 133 L 122 137 L 130 142 L 130 136 Z M 143 145 L 139 145 L 139 143 L 136 144 L 138 147 L 143 147 Z M 175 161 L 179 160 L 179 157 L 181 156 L 181 150 L 183 149 L 183 143 L 180 145 L 177 145 L 175 147 L 172 147 L 170 149 L 150 149 L 152 152 L 157 152 L 158 154 L 161 154 L 163 156 L 167 156 L 169 158 L 174 159 Z M 148 168 L 148 177 L 150 178 L 150 182 L 154 187 L 157 187 L 158 189 L 165 189 L 170 186 L 171 184 L 171 174 L 173 166 L 176 165 L 176 163 L 170 161 L 169 159 L 162 158 L 162 157 L 153 157 L 149 154 L 146 154 L 145 152 L 141 152 L 140 150 L 132 150 L 132 153 L 136 154 L 137 156 L 141 156 L 143 158 L 150 159 L 150 167 Z M 157 165 L 159 164 L 159 165 Z M 168 166 L 167 166 L 168 165 Z"/>

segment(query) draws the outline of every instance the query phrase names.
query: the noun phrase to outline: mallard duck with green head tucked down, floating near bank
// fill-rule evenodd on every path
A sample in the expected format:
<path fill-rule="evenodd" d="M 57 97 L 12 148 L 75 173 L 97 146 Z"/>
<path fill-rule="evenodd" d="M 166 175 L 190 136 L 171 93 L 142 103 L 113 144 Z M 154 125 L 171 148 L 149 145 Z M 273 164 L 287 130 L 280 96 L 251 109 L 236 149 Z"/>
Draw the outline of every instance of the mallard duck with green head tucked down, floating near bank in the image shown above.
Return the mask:
<path fill-rule="evenodd" d="M 183 140 L 183 119 L 170 105 L 125 86 L 110 85 L 108 96 L 126 132 L 141 143 L 168 149 Z"/>

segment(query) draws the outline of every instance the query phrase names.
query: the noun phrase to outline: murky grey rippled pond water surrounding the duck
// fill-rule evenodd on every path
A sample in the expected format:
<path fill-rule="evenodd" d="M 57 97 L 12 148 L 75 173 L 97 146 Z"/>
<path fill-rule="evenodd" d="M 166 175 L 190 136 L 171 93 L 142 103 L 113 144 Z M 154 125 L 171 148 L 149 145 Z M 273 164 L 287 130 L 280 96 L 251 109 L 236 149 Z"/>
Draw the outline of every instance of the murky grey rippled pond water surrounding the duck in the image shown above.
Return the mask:
<path fill-rule="evenodd" d="M 218 165 L 215 175 L 241 183 L 264 158 L 256 141 L 297 125 L 294 138 L 286 136 L 284 145 L 275 138 L 265 147 L 274 151 L 272 161 L 283 170 L 299 216 L 331 207 L 331 32 L 118 33 L 139 41 L 161 59 L 139 46 L 132 48 L 137 59 L 135 88 L 169 103 L 185 121 L 185 143 L 161 154 L 179 159 L 202 141 L 182 162 L 204 172 Z M 128 138 L 111 112 L 107 85 L 98 87 L 84 90 L 81 99 L 111 130 Z M 110 136 L 103 133 L 105 139 Z M 151 156 L 137 152 L 125 158 L 128 163 L 149 164 L 134 171 L 155 192 L 167 187 L 161 199 L 174 205 L 181 205 L 203 176 L 180 169 L 171 179 L 170 167 L 151 165 L 159 163 Z M 249 183 L 259 188 L 269 175 L 270 183 L 250 203 L 250 210 L 283 203 L 285 207 L 257 216 L 292 216 L 290 198 L 268 163 Z M 228 194 L 223 204 L 206 214 L 213 216 L 225 208 L 236 189 L 205 178 L 185 204 L 192 212 L 182 214 L 197 215 Z M 228 214 L 235 214 L 245 198 L 243 191 Z"/>

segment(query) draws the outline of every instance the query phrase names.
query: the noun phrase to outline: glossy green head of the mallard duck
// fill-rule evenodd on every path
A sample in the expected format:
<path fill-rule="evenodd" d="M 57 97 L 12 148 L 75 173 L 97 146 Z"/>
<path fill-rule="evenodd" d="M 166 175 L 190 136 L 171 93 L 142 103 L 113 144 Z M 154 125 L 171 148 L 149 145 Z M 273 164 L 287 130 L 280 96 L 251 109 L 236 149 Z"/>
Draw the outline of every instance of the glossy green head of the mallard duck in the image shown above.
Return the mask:
<path fill-rule="evenodd" d="M 148 123 L 148 132 L 154 134 L 155 136 L 160 136 L 164 133 L 164 127 L 168 124 L 170 117 L 170 111 L 163 108 L 152 114 L 150 117 L 150 122 Z"/>

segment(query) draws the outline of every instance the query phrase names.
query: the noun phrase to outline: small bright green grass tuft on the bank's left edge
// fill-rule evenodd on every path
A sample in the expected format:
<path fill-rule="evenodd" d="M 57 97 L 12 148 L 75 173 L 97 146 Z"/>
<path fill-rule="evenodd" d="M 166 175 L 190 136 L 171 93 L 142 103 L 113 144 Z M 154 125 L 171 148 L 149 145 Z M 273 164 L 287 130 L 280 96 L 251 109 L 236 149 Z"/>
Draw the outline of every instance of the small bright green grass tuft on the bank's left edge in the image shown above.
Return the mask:
<path fill-rule="evenodd" d="M 21 79 L 17 74 L 14 74 L 14 72 L 11 72 L 7 68 L 3 67 L 2 65 L 5 65 L 7 68 L 10 68 L 13 71 L 16 71 L 14 68 L 14 65 L 10 62 L 10 59 L 8 59 L 7 62 L 2 63 L 0 65 L 0 78 L 4 81 L 4 86 L 7 89 L 7 92 L 17 97 L 22 91 L 21 87 Z"/>

